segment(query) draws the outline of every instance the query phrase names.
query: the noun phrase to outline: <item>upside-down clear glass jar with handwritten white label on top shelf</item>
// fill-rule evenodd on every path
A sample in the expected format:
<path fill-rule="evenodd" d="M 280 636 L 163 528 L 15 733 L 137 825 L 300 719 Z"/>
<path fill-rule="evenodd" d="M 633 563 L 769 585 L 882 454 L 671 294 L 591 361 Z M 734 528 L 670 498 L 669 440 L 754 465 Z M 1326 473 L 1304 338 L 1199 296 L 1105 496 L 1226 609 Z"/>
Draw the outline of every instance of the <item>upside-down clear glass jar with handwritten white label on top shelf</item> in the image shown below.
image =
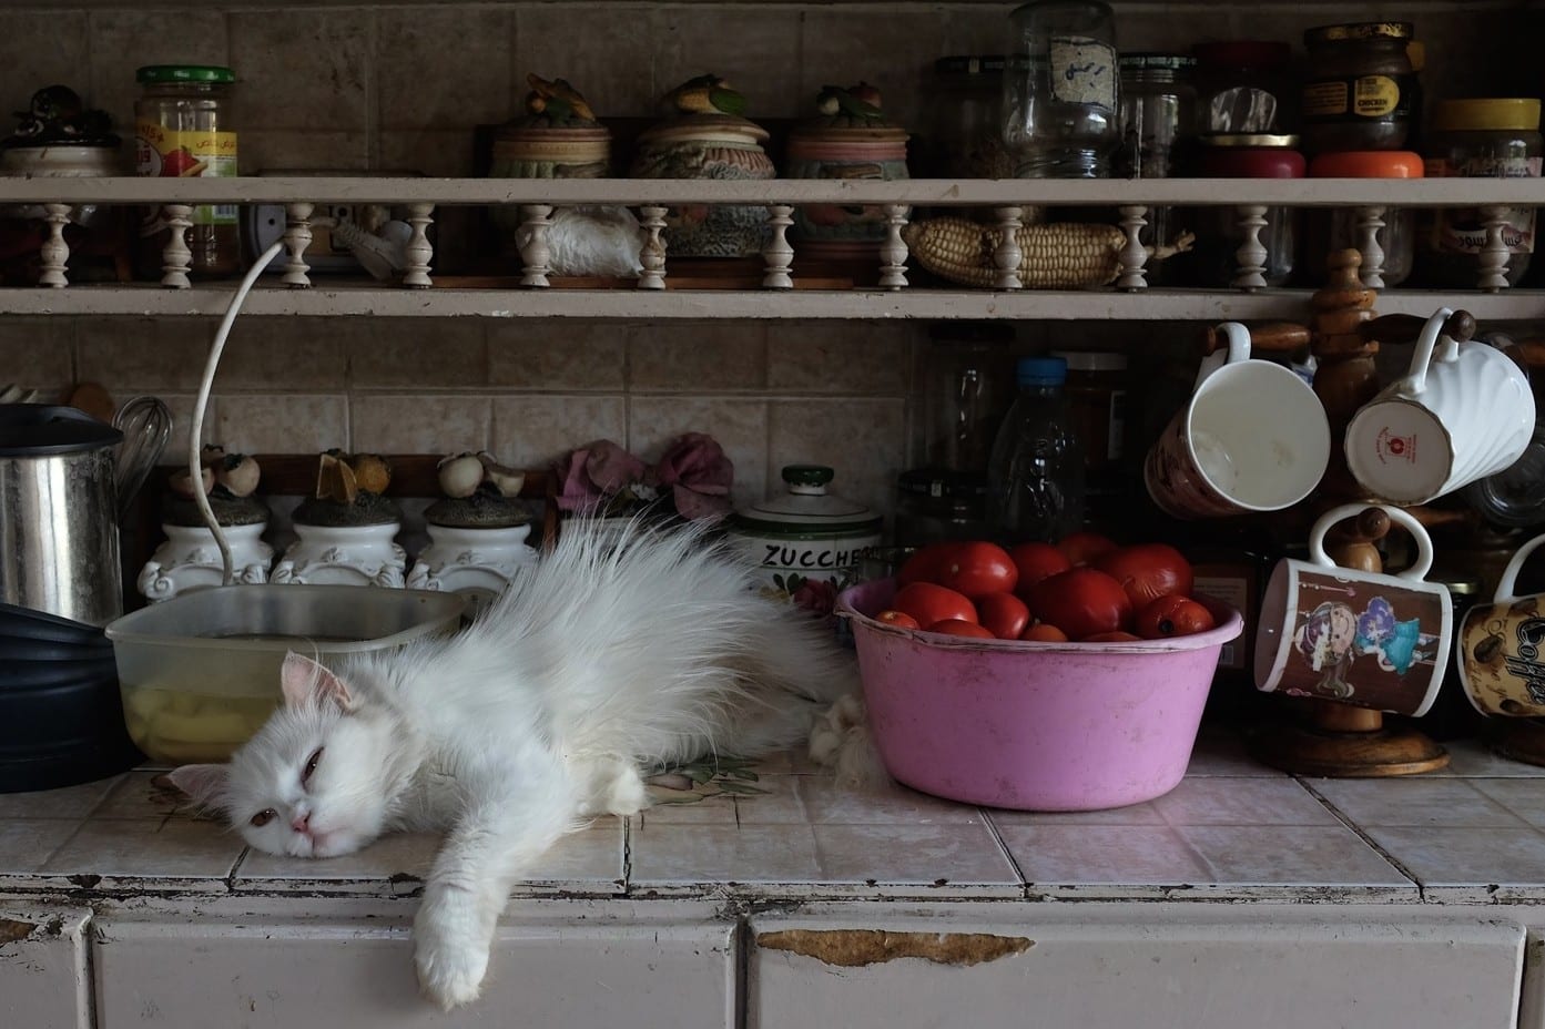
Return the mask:
<path fill-rule="evenodd" d="M 1021 179 L 1109 175 L 1122 141 L 1115 20 L 1100 0 L 1031 0 L 1010 15 L 1003 141 Z"/>

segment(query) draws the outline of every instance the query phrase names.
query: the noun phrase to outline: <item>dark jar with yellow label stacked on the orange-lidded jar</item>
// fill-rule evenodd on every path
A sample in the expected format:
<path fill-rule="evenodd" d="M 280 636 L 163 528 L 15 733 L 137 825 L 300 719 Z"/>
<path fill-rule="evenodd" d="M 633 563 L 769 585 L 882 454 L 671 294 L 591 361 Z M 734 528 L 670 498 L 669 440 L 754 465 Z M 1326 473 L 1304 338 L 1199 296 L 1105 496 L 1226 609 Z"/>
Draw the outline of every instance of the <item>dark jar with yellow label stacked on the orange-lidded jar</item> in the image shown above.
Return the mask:
<path fill-rule="evenodd" d="M 1304 32 L 1304 150 L 1404 147 L 1415 85 L 1409 45 L 1409 22 L 1321 25 Z"/>

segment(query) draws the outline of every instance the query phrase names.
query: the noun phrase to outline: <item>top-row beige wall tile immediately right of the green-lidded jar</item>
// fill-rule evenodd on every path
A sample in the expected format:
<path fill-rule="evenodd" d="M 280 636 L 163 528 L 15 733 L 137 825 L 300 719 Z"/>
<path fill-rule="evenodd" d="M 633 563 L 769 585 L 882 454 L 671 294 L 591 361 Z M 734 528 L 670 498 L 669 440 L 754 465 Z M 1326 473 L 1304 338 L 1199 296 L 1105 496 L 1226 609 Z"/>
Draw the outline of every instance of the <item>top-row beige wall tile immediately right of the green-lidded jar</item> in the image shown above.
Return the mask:
<path fill-rule="evenodd" d="M 236 12 L 229 25 L 244 128 L 369 128 L 369 8 Z"/>

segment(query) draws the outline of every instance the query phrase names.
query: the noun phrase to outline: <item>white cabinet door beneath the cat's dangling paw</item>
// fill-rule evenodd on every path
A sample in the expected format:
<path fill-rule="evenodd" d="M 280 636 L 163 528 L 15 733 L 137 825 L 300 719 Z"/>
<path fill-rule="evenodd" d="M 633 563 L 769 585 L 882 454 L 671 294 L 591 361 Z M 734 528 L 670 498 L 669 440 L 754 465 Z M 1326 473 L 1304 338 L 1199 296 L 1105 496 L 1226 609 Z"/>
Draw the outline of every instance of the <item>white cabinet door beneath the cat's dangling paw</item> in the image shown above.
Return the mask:
<path fill-rule="evenodd" d="M 93 953 L 99 1029 L 734 1024 L 735 927 L 712 916 L 513 904 L 482 998 L 443 1014 L 417 993 L 411 905 L 300 913 L 320 904 L 105 913 Z"/>

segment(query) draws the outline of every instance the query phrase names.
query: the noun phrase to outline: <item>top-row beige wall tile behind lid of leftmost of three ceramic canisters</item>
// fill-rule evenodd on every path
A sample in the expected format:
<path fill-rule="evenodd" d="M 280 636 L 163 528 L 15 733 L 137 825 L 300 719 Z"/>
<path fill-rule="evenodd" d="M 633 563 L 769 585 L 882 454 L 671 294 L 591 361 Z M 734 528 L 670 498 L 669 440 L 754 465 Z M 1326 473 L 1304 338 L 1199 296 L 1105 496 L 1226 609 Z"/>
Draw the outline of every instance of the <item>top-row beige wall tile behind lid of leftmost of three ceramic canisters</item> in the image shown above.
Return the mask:
<path fill-rule="evenodd" d="M 660 91 L 652 77 L 655 40 L 649 26 L 649 9 L 629 3 L 518 8 L 510 114 L 522 110 L 525 76 L 533 73 L 572 82 L 601 119 L 654 114 Z"/>

